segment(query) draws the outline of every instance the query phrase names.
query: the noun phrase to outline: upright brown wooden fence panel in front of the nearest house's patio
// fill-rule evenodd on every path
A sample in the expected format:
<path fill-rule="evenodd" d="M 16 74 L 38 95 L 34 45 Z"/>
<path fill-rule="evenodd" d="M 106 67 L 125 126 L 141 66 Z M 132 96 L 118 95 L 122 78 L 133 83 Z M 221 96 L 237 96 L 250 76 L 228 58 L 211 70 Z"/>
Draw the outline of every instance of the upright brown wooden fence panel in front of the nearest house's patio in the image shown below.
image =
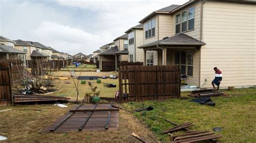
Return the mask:
<path fill-rule="evenodd" d="M 178 66 L 120 66 L 120 103 L 179 97 Z"/>

